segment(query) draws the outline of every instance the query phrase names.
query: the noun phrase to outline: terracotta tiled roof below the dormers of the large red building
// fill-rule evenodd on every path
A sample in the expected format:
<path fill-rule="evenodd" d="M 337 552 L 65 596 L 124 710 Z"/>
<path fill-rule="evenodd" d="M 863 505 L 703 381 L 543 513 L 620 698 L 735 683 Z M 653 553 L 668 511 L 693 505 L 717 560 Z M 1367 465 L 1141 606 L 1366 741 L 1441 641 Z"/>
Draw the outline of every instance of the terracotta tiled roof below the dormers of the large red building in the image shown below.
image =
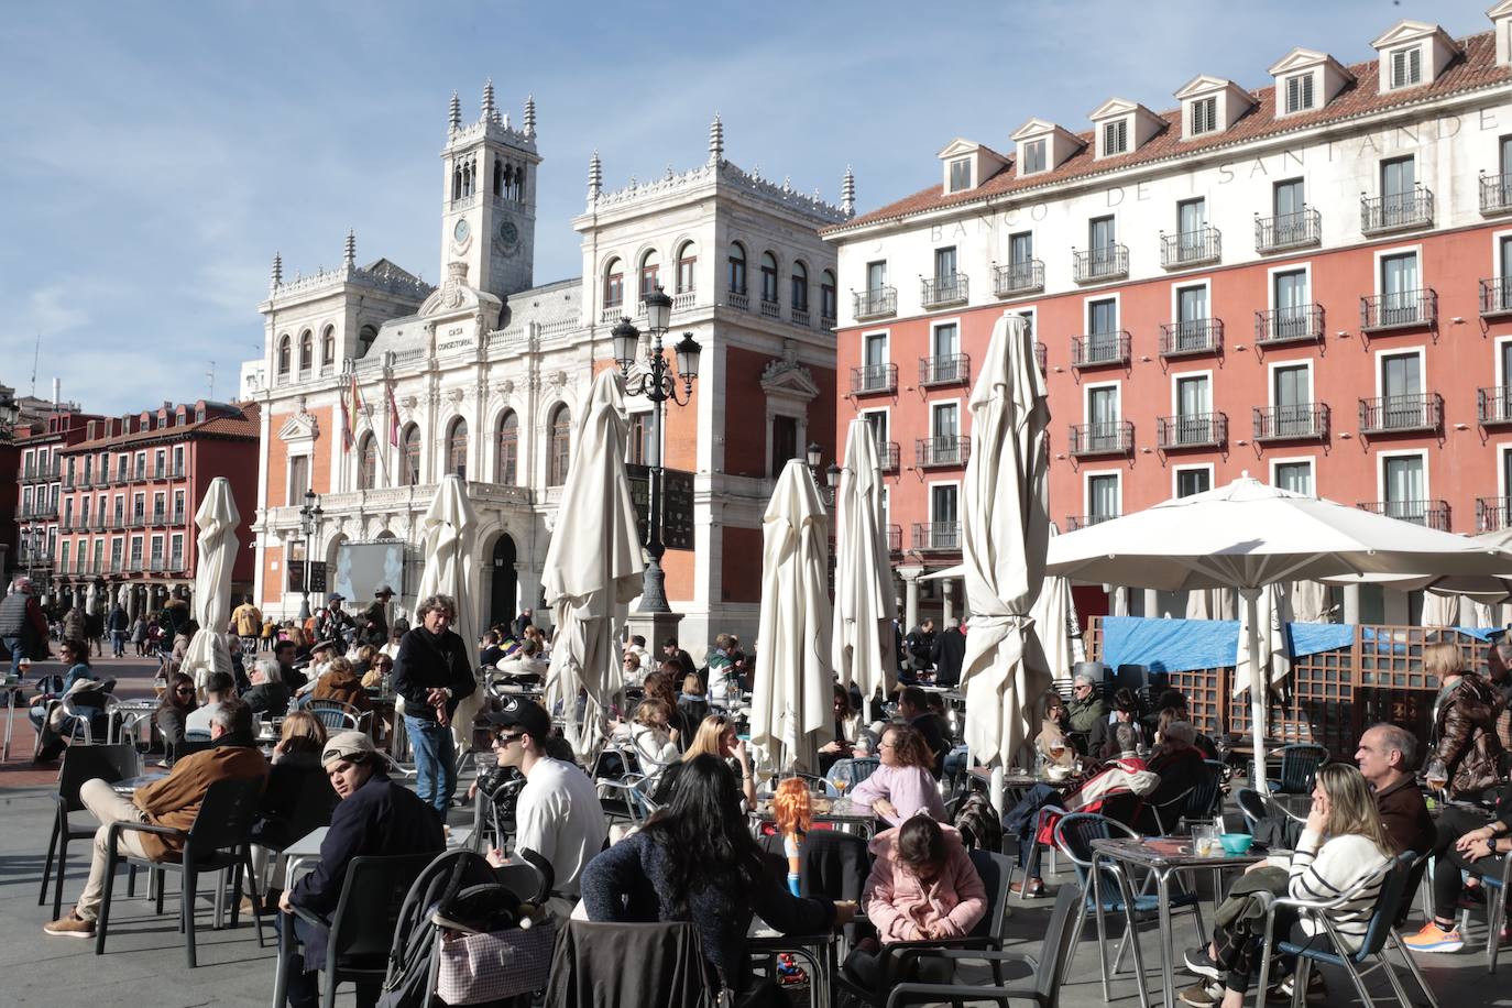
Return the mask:
<path fill-rule="evenodd" d="M 842 236 L 857 227 L 878 224 L 883 221 L 898 221 L 927 210 L 966 206 L 1018 190 L 1039 189 L 1072 178 L 1095 177 L 1134 165 L 1172 160 L 1193 151 L 1226 147 L 1267 136 L 1279 136 L 1325 122 L 1335 122 L 1370 112 L 1380 112 L 1396 106 L 1417 104 L 1420 101 L 1442 98 L 1462 91 L 1476 91 L 1512 82 L 1512 68 L 1497 66 L 1497 44 L 1494 32 L 1483 32 L 1480 35 L 1471 35 L 1459 39 L 1458 45 L 1461 53 L 1450 60 L 1448 66 L 1444 68 L 1433 83 L 1421 88 L 1382 94 L 1380 76 L 1377 70 L 1379 60 L 1371 59 L 1349 66 L 1347 70 L 1353 74 L 1355 80 L 1344 85 L 1344 89 L 1340 91 L 1334 100 L 1328 103 L 1328 106 L 1317 109 L 1315 112 L 1303 112 L 1276 119 L 1276 89 L 1275 86 L 1263 88 L 1250 92 L 1256 101 L 1255 107 L 1228 130 L 1204 136 L 1201 139 L 1184 141 L 1181 138 L 1181 109 L 1176 107 L 1160 113 L 1160 116 L 1166 119 L 1164 130 L 1146 141 L 1137 151 L 1122 157 L 1093 160 L 1093 133 L 1087 130 L 1077 135 L 1078 139 L 1086 142 L 1086 147 L 1083 147 L 1077 154 L 1067 157 L 1055 171 L 1031 175 L 1030 178 L 1019 178 L 1013 171 L 1013 159 L 1010 157 L 1010 163 L 1005 168 L 969 192 L 951 193 L 947 196 L 943 195 L 943 186 L 930 186 L 928 189 L 922 189 L 912 196 L 904 196 L 903 199 L 889 203 L 885 207 L 872 210 L 871 213 L 863 213 L 851 221 L 847 221 L 845 224 L 835 224 L 823 228 L 820 233 L 826 237 Z"/>

